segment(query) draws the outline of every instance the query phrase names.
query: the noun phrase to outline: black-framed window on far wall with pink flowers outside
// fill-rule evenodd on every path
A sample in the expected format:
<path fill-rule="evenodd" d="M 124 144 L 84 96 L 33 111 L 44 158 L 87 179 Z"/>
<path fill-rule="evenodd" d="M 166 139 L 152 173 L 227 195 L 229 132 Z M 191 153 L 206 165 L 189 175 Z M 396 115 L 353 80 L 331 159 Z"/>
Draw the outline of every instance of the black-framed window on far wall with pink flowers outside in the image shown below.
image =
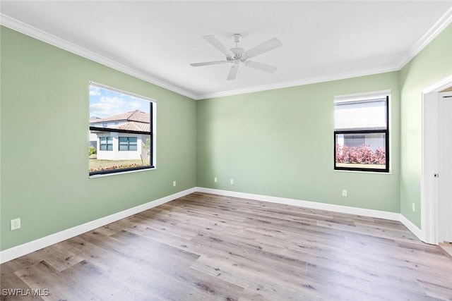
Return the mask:
<path fill-rule="evenodd" d="M 334 169 L 389 171 L 389 92 L 335 97 Z"/>

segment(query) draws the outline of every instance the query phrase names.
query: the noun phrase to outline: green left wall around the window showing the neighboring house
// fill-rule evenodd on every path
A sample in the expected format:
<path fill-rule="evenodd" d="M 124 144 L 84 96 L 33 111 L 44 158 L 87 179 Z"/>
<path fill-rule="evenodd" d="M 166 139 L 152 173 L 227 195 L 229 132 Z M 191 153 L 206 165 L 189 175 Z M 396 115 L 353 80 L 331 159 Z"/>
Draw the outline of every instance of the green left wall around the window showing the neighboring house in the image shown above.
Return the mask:
<path fill-rule="evenodd" d="M 0 250 L 196 186 L 196 101 L 6 27 L 0 34 Z M 90 80 L 157 99 L 156 170 L 88 178 Z"/>

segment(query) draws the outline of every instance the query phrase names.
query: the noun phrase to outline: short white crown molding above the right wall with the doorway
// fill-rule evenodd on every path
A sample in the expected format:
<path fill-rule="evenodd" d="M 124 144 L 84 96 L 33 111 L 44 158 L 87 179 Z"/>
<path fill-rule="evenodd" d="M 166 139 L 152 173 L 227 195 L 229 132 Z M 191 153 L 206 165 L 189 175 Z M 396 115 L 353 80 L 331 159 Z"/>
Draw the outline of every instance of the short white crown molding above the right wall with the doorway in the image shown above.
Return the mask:
<path fill-rule="evenodd" d="M 452 23 L 452 7 L 423 35 L 417 43 L 405 53 L 397 63 L 396 68 L 402 69 L 409 61 L 422 51 L 432 40 L 438 36 L 449 24 Z"/>

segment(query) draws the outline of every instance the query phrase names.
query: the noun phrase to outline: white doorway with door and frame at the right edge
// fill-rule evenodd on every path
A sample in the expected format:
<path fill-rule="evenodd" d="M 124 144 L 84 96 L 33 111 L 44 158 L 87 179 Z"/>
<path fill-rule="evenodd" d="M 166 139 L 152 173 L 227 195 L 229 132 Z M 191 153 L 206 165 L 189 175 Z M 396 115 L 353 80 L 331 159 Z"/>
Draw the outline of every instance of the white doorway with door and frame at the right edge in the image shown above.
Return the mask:
<path fill-rule="evenodd" d="M 451 87 L 452 75 L 422 91 L 421 239 L 434 245 L 452 239 Z"/>

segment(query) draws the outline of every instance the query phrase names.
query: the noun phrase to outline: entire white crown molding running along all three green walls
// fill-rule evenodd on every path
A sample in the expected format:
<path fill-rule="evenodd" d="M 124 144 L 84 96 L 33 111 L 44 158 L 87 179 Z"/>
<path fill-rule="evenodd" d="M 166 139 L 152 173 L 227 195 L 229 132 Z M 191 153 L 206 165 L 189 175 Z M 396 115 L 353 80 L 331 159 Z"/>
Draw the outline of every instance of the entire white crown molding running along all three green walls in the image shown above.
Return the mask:
<path fill-rule="evenodd" d="M 157 80 L 156 78 L 153 78 L 145 73 L 142 73 L 141 71 L 130 68 L 128 66 L 124 66 L 123 64 L 118 63 L 117 61 L 108 59 L 105 56 L 100 56 L 99 54 L 96 54 L 93 51 L 90 51 L 83 47 L 79 47 L 76 44 L 68 42 L 64 39 L 60 39 L 59 37 L 56 37 L 47 32 L 44 32 L 43 30 L 40 30 L 36 27 L 32 27 L 26 23 L 23 23 L 19 20 L 6 16 L 3 13 L 0 13 L 0 25 L 4 25 L 5 27 L 11 28 L 12 30 L 21 32 L 24 35 L 34 37 L 35 39 L 39 39 L 42 42 L 46 42 L 47 44 L 51 44 L 55 47 L 59 47 L 66 51 L 70 51 L 73 54 L 83 56 L 84 58 L 90 59 L 91 61 L 101 63 L 102 65 L 108 66 L 115 70 L 119 70 L 119 71 L 129 74 L 129 75 L 132 75 L 135 78 L 145 80 L 146 82 L 150 82 L 153 85 L 157 85 L 166 90 L 175 92 L 177 94 L 184 95 L 186 97 L 189 97 L 189 98 L 195 99 L 195 100 L 215 98 L 215 97 L 227 97 L 227 96 L 233 96 L 233 95 L 238 95 L 238 94 L 261 92 L 261 91 L 267 91 L 267 90 L 282 89 L 282 88 L 287 88 L 287 87 L 296 87 L 296 86 L 301 86 L 301 85 L 310 85 L 310 84 L 315 84 L 315 83 L 319 83 L 319 82 L 329 82 L 329 81 L 333 81 L 333 80 L 343 80 L 343 79 L 347 79 L 347 78 L 356 78 L 359 76 L 374 75 L 374 74 L 379 74 L 379 73 L 398 71 L 398 70 L 402 69 L 409 61 L 411 61 L 412 58 L 414 58 L 417 54 L 419 54 L 420 51 L 422 51 L 422 49 L 424 49 L 424 47 L 426 47 L 430 42 L 432 42 L 432 40 L 437 35 L 439 35 L 439 33 L 441 33 L 451 23 L 452 23 L 452 7 L 449 8 L 448 11 L 446 11 L 446 13 L 444 13 L 444 15 L 432 26 L 432 28 L 430 28 L 430 30 L 425 35 L 423 35 L 421 37 L 421 39 L 413 47 L 411 47 L 410 50 L 408 50 L 402 58 L 399 59 L 398 62 L 394 63 L 393 65 L 383 66 L 383 67 L 379 67 L 379 68 L 369 68 L 369 69 L 364 69 L 364 70 L 355 70 L 355 71 L 351 71 L 351 72 L 347 72 L 347 73 L 337 73 L 337 74 L 333 74 L 333 75 L 325 75 L 325 76 L 319 76 L 319 77 L 315 77 L 315 78 L 304 78 L 302 80 L 290 80 L 287 82 L 278 82 L 278 83 L 270 84 L 270 85 L 259 85 L 259 86 L 247 87 L 247 88 L 237 89 L 237 90 L 213 92 L 213 93 L 208 93 L 208 94 L 194 94 L 194 93 L 191 93 L 191 92 L 188 92 L 188 91 L 182 89 L 181 87 L 176 87 L 174 85 L 169 84 L 168 82 L 164 82 L 162 80 Z"/>

